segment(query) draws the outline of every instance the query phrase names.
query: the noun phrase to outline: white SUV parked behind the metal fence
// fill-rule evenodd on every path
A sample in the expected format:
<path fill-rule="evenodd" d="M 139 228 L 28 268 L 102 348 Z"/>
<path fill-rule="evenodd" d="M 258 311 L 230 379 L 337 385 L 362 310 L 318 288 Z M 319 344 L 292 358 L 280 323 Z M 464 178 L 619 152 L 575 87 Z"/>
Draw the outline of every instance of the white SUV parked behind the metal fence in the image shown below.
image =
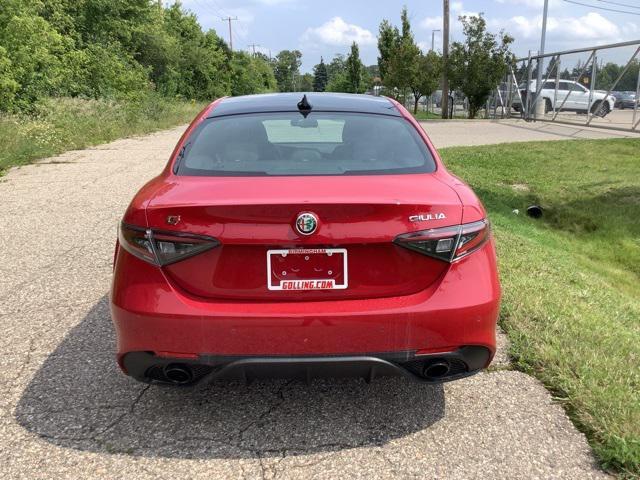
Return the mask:
<path fill-rule="evenodd" d="M 519 86 L 523 102 L 526 103 L 527 95 L 535 96 L 536 83 L 536 80 L 532 80 L 528 89 L 526 84 Z M 591 112 L 594 115 L 605 117 L 613 110 L 615 102 L 615 98 L 612 95 L 607 96 L 606 92 L 599 91 L 590 93 L 582 84 L 571 80 L 560 80 L 557 93 L 556 81 L 546 81 L 540 91 L 540 96 L 545 102 L 545 113 L 552 110 L 577 113 Z M 513 100 L 513 106 L 517 111 L 523 110 L 520 99 L 517 97 Z M 533 110 L 533 107 L 531 108 Z"/>

